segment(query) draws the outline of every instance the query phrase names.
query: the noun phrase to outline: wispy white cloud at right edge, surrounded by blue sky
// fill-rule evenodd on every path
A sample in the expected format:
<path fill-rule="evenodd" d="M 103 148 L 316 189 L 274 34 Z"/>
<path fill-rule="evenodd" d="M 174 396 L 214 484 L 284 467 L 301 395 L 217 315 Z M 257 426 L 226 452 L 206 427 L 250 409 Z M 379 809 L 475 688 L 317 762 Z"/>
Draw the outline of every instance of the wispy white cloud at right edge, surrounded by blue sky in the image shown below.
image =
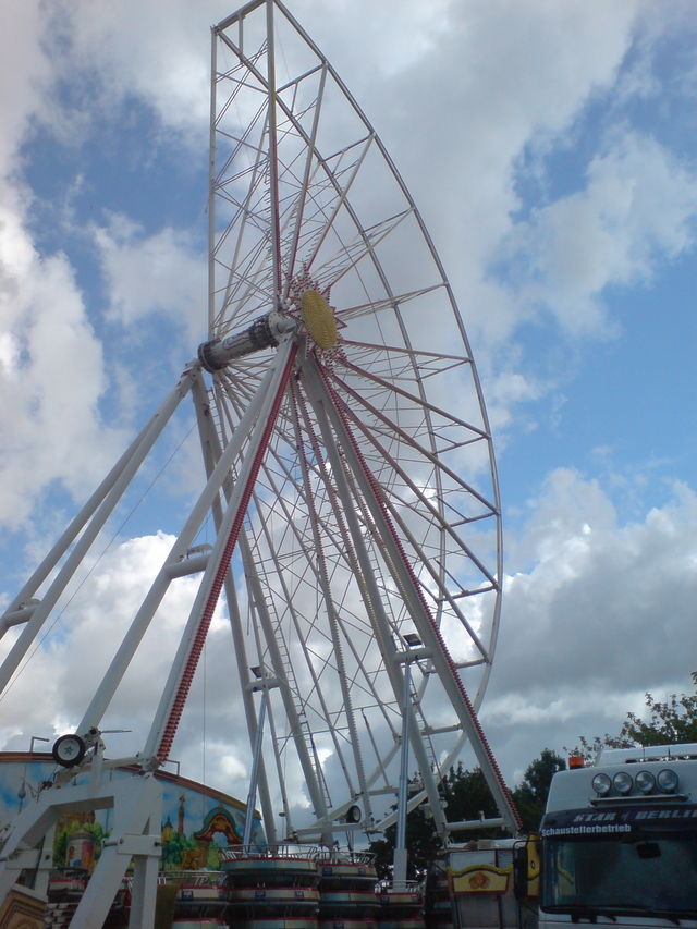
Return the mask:
<path fill-rule="evenodd" d="M 515 228 L 523 300 L 574 333 L 602 334 L 612 327 L 604 289 L 649 283 L 660 264 L 694 247 L 696 218 L 697 172 L 650 136 L 613 133 L 584 190 Z"/>

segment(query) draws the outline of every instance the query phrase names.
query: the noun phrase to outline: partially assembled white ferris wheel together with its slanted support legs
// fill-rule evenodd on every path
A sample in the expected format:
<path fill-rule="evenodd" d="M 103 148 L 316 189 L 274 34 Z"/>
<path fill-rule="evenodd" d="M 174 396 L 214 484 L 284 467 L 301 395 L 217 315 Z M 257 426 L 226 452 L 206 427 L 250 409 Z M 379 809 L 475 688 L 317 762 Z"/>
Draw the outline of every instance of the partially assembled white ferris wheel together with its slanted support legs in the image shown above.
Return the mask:
<path fill-rule="evenodd" d="M 191 394 L 207 484 L 80 726 L 59 739 L 58 781 L 131 761 L 149 783 L 224 592 L 231 686 L 255 759 L 250 800 L 258 791 L 269 843 L 332 845 L 419 804 L 447 840 L 438 785 L 467 739 L 497 822 L 514 831 L 476 718 L 499 625 L 501 525 L 467 337 L 382 143 L 278 0 L 253 0 L 212 30 L 210 155 L 208 341 L 10 604 L 2 628 L 21 632 L 0 684 Z M 211 514 L 216 540 L 201 550 Z M 169 585 L 186 574 L 198 575 L 198 592 L 149 735 L 137 756 L 107 761 L 102 717 Z M 407 791 L 408 750 L 419 774 Z M 304 785 L 304 817 L 289 779 Z M 118 807 L 109 790 L 103 803 Z M 145 840 L 159 822 L 142 794 L 123 828 Z M 395 811 L 384 812 L 386 797 Z M 46 810 L 33 821 L 25 810 L 5 857 L 30 857 Z M 147 882 L 156 853 L 133 854 Z M 11 860 L 0 889 L 16 876 Z"/>

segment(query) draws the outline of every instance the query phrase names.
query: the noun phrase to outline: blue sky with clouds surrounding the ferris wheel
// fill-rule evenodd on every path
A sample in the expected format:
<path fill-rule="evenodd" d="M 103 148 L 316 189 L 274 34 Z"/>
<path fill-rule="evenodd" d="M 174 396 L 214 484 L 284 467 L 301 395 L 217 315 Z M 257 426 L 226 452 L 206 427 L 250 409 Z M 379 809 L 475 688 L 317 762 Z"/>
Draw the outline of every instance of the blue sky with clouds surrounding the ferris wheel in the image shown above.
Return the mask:
<path fill-rule="evenodd" d="M 209 26 L 232 10 L 2 5 L 0 606 L 205 338 Z M 482 720 L 513 784 L 541 748 L 616 732 L 645 690 L 687 689 L 697 670 L 697 12 L 687 0 L 292 11 L 416 199 L 484 380 L 505 597 Z M 82 638 L 58 623 L 0 705 L 2 746 L 80 719 L 93 665 L 191 503 L 197 452 L 179 428 L 173 465 L 144 476 L 147 501 L 97 547 L 82 604 L 74 591 Z M 174 629 L 192 588 L 170 596 Z M 211 636 L 225 635 L 218 618 Z M 124 719 L 171 655 L 161 640 L 143 651 Z M 230 736 L 211 696 L 225 660 L 208 649 L 209 683 L 199 674 L 192 695 L 207 749 L 180 757 L 244 795 L 246 736 Z"/>

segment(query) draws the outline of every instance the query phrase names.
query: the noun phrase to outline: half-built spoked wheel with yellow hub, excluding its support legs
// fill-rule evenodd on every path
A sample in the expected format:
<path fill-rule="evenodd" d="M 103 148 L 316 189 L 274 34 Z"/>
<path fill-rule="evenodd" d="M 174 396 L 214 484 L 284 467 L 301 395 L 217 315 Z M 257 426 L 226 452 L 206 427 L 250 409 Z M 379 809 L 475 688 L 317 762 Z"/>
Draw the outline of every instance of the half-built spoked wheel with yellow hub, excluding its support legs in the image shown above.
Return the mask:
<path fill-rule="evenodd" d="M 389 155 L 288 10 L 249 3 L 223 21 L 212 71 L 199 358 L 213 445 L 239 431 L 283 346 L 293 355 L 240 536 L 254 631 L 243 649 L 233 619 L 243 686 L 249 668 L 273 681 L 274 765 L 296 757 L 317 817 L 296 830 L 285 791 L 285 824 L 317 838 L 356 798 L 383 828 L 376 797 L 393 794 L 407 668 L 413 804 L 426 797 L 442 827 L 437 783 L 463 741 L 491 765 L 472 710 L 501 594 L 496 467 L 465 330 Z M 265 346 L 246 354 L 245 330 Z"/>

